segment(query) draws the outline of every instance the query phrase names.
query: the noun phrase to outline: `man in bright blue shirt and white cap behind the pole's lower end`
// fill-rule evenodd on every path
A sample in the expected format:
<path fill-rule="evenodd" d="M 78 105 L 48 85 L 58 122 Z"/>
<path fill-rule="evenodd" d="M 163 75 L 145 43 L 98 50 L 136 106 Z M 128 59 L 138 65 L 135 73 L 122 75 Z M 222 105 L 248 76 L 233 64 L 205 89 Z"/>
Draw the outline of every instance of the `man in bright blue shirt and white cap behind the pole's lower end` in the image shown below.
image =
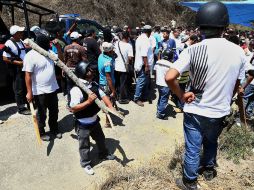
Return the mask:
<path fill-rule="evenodd" d="M 103 42 L 103 52 L 98 58 L 98 70 L 99 70 L 99 84 L 104 93 L 112 100 L 116 99 L 115 90 L 115 52 L 114 46 L 111 43 Z M 113 101 L 114 102 L 114 101 Z M 108 118 L 106 117 L 105 127 L 111 127 Z"/>

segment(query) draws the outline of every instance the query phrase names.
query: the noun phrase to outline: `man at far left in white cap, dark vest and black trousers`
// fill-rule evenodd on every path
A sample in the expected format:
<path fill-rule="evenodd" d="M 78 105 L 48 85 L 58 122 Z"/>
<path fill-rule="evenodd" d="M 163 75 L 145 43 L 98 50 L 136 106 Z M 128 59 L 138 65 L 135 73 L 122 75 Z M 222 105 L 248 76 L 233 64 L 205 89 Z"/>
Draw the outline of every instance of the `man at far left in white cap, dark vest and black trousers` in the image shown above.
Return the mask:
<path fill-rule="evenodd" d="M 13 79 L 13 91 L 18 107 L 18 113 L 30 115 L 30 110 L 25 107 L 26 102 L 26 85 L 25 74 L 22 71 L 23 60 L 26 55 L 26 48 L 22 42 L 25 28 L 13 25 L 10 28 L 11 38 L 5 43 L 3 52 L 3 61 L 7 63 L 10 75 Z"/>

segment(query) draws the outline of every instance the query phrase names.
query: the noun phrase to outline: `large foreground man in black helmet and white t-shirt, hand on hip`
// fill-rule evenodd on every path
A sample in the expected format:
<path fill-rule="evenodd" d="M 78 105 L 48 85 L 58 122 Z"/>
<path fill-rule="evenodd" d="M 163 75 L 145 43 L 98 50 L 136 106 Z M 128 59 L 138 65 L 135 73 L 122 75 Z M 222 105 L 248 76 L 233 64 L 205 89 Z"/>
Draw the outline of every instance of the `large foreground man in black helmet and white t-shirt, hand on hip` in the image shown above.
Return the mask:
<path fill-rule="evenodd" d="M 177 179 L 176 184 L 181 189 L 192 190 L 197 189 L 199 166 L 203 167 L 206 180 L 216 175 L 217 140 L 223 130 L 223 120 L 230 113 L 232 97 L 244 78 L 246 63 L 239 46 L 220 38 L 229 24 L 224 4 L 205 3 L 197 12 L 196 22 L 205 40 L 185 49 L 166 75 L 170 89 L 185 102 L 183 178 Z M 183 92 L 177 77 L 187 70 L 190 89 Z"/>

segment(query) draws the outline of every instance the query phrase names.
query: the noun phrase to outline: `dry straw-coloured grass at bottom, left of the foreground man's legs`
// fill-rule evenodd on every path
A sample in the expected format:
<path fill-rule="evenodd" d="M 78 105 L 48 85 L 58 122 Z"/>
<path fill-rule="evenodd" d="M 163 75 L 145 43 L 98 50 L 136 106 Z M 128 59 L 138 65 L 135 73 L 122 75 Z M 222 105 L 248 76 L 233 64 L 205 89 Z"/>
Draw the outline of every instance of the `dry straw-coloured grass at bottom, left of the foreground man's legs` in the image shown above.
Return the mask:
<path fill-rule="evenodd" d="M 176 146 L 173 156 L 165 154 L 133 170 L 117 168 L 102 190 L 165 190 L 177 189 L 175 177 L 181 173 L 182 146 Z"/>

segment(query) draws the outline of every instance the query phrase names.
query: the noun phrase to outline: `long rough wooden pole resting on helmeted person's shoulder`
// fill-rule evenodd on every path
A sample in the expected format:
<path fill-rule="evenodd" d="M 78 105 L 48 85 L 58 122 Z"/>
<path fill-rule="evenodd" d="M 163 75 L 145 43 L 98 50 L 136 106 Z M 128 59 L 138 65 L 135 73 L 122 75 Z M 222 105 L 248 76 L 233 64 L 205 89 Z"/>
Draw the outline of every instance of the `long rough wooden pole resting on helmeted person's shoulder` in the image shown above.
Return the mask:
<path fill-rule="evenodd" d="M 25 44 L 28 44 L 33 50 L 37 51 L 41 55 L 48 57 L 52 61 L 56 63 L 58 67 L 60 67 L 65 74 L 78 86 L 83 90 L 86 94 L 91 94 L 92 91 L 87 88 L 84 83 L 82 83 L 78 77 L 60 60 L 54 53 L 49 53 L 48 51 L 45 51 L 40 46 L 38 46 L 35 42 L 33 42 L 31 39 L 26 39 Z M 111 113 L 120 119 L 124 119 L 124 116 L 118 113 L 116 110 L 109 109 L 103 102 L 101 102 L 98 98 L 96 98 L 95 103 L 105 112 L 105 113 Z"/>

